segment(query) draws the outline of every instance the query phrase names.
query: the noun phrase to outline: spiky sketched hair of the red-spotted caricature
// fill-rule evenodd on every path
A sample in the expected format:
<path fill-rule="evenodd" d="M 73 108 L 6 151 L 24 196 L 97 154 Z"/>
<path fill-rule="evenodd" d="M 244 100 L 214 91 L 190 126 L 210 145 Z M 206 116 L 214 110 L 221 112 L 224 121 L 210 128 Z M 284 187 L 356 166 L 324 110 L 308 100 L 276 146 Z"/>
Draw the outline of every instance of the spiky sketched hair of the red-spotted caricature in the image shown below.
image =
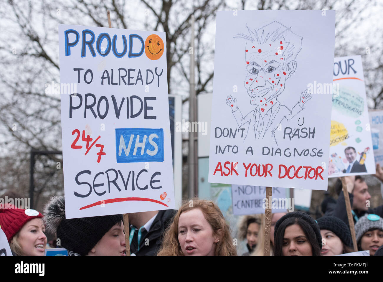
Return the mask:
<path fill-rule="evenodd" d="M 234 36 L 234 38 L 243 38 L 257 44 L 274 43 L 281 40 L 288 44 L 282 51 L 282 54 L 285 56 L 283 69 L 290 61 L 295 60 L 301 51 L 303 37 L 293 33 L 290 28 L 278 23 L 278 21 L 273 21 L 258 30 L 254 30 L 254 32 L 247 25 L 246 28 L 249 31 L 249 35 L 237 33 L 238 36 Z"/>

